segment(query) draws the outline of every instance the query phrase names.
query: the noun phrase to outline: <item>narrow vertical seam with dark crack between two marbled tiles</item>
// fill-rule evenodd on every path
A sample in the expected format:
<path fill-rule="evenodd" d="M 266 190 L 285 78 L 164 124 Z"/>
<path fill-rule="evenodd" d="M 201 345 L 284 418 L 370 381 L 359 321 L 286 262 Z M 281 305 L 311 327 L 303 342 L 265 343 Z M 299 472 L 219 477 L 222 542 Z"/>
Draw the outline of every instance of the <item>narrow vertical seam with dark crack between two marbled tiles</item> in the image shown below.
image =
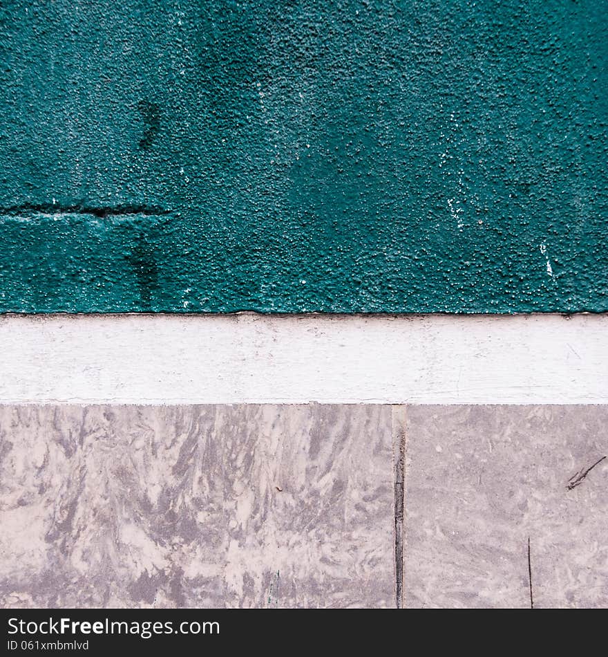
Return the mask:
<path fill-rule="evenodd" d="M 393 459 L 395 464 L 395 604 L 403 607 L 403 520 L 406 478 L 406 407 L 392 407 Z"/>

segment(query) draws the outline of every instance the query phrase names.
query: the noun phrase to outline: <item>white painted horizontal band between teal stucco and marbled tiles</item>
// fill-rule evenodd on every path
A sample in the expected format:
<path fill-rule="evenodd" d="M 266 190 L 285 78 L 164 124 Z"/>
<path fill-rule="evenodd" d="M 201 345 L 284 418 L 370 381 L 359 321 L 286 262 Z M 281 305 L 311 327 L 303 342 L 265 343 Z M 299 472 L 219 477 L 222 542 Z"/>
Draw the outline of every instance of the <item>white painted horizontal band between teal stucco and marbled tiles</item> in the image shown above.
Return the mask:
<path fill-rule="evenodd" d="M 608 315 L 8 315 L 0 402 L 607 403 Z"/>

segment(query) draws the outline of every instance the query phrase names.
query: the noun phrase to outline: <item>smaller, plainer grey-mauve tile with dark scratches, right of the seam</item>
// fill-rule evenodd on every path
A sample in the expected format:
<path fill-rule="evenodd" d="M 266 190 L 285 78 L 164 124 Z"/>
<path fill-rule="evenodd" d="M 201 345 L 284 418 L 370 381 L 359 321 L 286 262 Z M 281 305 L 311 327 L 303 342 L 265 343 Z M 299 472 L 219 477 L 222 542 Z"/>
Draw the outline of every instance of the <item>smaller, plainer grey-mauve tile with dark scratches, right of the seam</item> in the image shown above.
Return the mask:
<path fill-rule="evenodd" d="M 406 413 L 406 607 L 608 607 L 608 407 Z"/>

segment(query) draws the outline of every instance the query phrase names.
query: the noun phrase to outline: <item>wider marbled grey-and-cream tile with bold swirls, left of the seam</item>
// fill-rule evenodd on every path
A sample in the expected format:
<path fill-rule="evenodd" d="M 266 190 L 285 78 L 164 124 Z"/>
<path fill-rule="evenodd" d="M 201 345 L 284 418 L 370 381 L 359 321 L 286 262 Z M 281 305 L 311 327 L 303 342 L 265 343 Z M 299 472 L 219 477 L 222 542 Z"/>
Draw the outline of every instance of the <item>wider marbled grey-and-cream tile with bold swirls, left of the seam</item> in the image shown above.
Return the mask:
<path fill-rule="evenodd" d="M 0 407 L 5 607 L 393 606 L 390 407 Z"/>

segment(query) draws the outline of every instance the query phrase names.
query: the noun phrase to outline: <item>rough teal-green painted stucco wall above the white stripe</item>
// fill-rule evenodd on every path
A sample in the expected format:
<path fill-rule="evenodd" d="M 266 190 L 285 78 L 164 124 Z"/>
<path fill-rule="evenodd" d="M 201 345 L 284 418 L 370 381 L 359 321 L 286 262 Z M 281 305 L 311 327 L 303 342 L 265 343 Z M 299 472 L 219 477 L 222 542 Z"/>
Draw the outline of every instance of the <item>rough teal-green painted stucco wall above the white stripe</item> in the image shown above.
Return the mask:
<path fill-rule="evenodd" d="M 0 311 L 606 311 L 601 0 L 12 0 Z"/>

